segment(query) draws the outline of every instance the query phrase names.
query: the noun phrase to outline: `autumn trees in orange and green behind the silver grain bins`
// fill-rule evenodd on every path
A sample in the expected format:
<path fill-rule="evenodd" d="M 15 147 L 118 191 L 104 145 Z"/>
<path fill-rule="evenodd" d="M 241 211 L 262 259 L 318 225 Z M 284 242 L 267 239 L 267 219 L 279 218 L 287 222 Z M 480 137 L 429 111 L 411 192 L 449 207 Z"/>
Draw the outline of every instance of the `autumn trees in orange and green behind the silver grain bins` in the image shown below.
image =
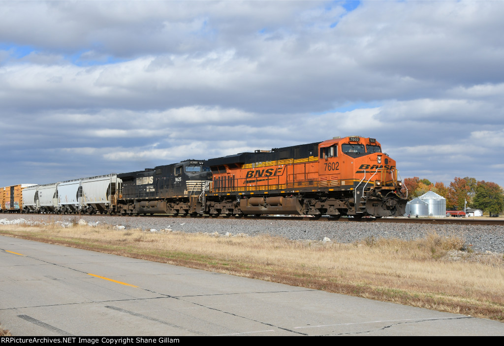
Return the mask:
<path fill-rule="evenodd" d="M 464 201 L 467 201 L 466 207 L 481 209 L 484 213 L 500 214 L 504 210 L 504 189 L 491 181 L 455 177 L 446 186 L 443 182 L 431 183 L 428 179 L 413 177 L 404 179 L 402 191 L 406 192 L 406 188 L 410 200 L 428 191 L 445 197 L 447 210 L 464 210 Z"/>

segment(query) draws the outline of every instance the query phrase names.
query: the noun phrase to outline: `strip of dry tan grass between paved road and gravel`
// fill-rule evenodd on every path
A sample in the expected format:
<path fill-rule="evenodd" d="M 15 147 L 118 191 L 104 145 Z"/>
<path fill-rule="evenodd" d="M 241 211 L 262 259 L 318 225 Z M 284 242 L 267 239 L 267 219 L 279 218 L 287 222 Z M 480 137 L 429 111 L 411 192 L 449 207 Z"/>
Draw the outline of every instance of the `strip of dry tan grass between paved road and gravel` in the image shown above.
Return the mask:
<path fill-rule="evenodd" d="M 456 236 L 338 244 L 57 225 L 1 226 L 0 234 L 504 320 L 502 254 L 469 260 L 479 254 L 458 252 L 464 241 Z"/>

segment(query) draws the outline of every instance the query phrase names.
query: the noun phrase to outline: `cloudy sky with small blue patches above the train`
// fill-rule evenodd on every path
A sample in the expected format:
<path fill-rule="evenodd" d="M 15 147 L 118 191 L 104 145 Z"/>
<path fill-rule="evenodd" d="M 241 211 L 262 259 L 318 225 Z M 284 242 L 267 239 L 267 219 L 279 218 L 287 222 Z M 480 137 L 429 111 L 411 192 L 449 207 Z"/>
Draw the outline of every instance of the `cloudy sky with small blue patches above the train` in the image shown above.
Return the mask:
<path fill-rule="evenodd" d="M 502 1 L 0 2 L 0 186 L 375 137 L 504 185 Z"/>

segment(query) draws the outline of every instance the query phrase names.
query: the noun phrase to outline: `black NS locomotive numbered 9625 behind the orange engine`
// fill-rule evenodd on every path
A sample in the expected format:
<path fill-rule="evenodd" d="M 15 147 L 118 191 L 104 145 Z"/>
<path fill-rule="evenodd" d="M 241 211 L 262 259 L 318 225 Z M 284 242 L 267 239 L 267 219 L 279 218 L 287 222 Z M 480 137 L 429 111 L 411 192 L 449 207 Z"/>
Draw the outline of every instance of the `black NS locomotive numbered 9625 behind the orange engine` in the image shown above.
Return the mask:
<path fill-rule="evenodd" d="M 195 215 L 203 213 L 203 192 L 212 173 L 204 160 L 186 160 L 117 177 L 122 180 L 117 198 L 117 211 L 122 215 Z"/>

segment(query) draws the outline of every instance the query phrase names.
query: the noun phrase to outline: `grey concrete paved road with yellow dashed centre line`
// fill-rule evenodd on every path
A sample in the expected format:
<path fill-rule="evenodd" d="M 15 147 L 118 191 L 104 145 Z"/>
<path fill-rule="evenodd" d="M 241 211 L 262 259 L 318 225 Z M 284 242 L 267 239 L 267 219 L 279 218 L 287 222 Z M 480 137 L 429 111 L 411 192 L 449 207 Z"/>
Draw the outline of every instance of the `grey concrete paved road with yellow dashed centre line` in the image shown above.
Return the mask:
<path fill-rule="evenodd" d="M 0 236 L 13 335 L 504 335 L 504 324 Z"/>

